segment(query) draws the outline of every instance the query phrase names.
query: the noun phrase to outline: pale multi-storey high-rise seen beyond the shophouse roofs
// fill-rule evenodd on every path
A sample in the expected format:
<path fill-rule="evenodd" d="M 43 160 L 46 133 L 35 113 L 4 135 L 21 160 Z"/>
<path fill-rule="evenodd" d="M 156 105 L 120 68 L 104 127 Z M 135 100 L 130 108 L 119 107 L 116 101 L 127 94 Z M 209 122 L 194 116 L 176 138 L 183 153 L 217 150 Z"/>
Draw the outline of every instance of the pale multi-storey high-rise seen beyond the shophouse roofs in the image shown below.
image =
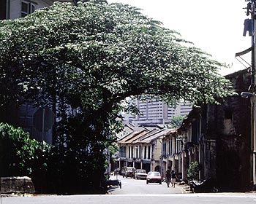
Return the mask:
<path fill-rule="evenodd" d="M 132 123 L 132 125 L 165 125 L 170 123 L 170 119 L 174 116 L 186 116 L 192 110 L 191 103 L 178 103 L 176 107 L 168 106 L 167 103 L 157 99 L 146 101 L 136 100 L 135 105 L 140 111 L 140 115 L 132 116 L 124 114 L 124 122 Z"/>

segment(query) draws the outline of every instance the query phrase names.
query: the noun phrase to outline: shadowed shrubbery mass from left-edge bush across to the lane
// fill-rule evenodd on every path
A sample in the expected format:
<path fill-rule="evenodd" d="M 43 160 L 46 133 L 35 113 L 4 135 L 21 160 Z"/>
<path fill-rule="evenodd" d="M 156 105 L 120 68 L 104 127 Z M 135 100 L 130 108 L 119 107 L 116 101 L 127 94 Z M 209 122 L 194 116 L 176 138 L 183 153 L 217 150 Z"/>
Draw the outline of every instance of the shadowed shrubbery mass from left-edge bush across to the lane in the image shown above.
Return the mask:
<path fill-rule="evenodd" d="M 80 141 L 83 131 L 72 122 L 56 146 L 42 146 L 22 128 L 0 123 L 0 176 L 30 176 L 39 193 L 105 193 L 105 154 L 86 152 L 88 141 Z"/>

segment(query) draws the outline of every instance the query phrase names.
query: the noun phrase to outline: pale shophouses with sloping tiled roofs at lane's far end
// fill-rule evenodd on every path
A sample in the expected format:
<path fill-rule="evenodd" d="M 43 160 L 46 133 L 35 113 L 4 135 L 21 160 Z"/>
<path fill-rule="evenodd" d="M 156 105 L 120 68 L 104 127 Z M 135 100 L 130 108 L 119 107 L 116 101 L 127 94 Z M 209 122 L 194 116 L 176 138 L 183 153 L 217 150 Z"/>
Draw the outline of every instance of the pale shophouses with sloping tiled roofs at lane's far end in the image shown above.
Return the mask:
<path fill-rule="evenodd" d="M 146 172 L 161 171 L 161 137 L 167 131 L 169 129 L 159 127 L 137 127 L 118 140 L 119 169 L 135 167 L 145 169 Z"/>

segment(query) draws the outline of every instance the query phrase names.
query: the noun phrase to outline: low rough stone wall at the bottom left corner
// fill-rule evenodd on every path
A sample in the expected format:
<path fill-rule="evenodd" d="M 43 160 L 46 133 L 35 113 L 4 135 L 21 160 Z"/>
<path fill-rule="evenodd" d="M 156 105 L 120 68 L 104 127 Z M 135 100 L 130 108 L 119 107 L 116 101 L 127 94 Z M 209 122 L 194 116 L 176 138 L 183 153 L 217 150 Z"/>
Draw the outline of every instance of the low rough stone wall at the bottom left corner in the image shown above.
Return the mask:
<path fill-rule="evenodd" d="M 34 193 L 34 184 L 28 176 L 1 177 L 1 193 Z"/>

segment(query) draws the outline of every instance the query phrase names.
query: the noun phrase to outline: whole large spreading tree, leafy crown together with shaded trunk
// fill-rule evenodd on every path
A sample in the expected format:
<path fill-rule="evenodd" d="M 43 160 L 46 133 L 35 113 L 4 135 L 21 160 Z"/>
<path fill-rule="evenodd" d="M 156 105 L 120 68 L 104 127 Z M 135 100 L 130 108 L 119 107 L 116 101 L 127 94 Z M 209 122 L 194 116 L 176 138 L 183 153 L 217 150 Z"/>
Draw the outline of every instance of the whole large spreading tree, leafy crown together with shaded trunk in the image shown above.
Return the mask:
<path fill-rule="evenodd" d="M 60 157 L 80 178 L 91 178 L 84 169 L 99 177 L 88 187 L 100 186 L 105 141 L 116 130 L 122 100 L 157 95 L 169 103 L 217 102 L 233 94 L 220 66 L 129 5 L 57 2 L 0 21 L 0 111 L 16 101 L 52 107 L 61 119 L 56 143 L 65 144 Z M 68 112 L 70 106 L 80 114 Z"/>

